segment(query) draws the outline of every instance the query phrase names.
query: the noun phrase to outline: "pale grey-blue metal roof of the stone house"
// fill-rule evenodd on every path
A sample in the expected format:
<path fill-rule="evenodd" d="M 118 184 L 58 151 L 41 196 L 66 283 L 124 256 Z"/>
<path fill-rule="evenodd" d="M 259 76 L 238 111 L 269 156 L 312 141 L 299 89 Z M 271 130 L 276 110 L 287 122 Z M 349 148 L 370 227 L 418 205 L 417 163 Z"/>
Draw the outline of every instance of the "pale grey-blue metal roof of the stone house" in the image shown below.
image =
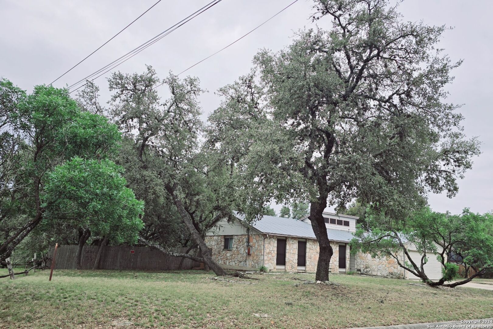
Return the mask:
<path fill-rule="evenodd" d="M 245 216 L 234 212 L 236 217 L 244 222 Z M 245 224 L 245 223 L 244 223 Z M 304 239 L 317 239 L 313 233 L 312 225 L 294 218 L 284 218 L 277 216 L 262 216 L 250 225 L 255 230 L 263 234 L 273 234 L 283 237 L 296 237 Z M 350 242 L 354 236 L 351 232 L 335 229 L 327 229 L 327 236 L 330 241 Z"/>

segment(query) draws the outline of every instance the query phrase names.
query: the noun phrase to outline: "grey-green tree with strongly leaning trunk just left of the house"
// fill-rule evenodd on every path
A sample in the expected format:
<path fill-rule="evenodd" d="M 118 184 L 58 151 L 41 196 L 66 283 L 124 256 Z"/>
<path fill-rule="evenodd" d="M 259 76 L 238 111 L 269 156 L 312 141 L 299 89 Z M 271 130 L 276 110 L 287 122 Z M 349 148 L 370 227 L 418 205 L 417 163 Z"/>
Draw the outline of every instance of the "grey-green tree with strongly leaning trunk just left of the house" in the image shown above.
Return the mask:
<path fill-rule="evenodd" d="M 155 90 L 161 81 L 151 67 L 143 74 L 113 74 L 110 113 L 125 138 L 132 141 L 140 170 L 145 171 L 142 179 L 163 191 L 162 206 L 170 210 L 161 221 L 177 216 L 202 257 L 171 252 L 144 237 L 140 241 L 173 256 L 194 257 L 217 275 L 225 275 L 204 241 L 208 228 L 233 215 L 229 171 L 217 165 L 199 141 L 204 126 L 197 97 L 203 90 L 198 79 L 191 77 L 179 80 L 170 74 L 162 82 L 170 93 L 164 101 Z"/>

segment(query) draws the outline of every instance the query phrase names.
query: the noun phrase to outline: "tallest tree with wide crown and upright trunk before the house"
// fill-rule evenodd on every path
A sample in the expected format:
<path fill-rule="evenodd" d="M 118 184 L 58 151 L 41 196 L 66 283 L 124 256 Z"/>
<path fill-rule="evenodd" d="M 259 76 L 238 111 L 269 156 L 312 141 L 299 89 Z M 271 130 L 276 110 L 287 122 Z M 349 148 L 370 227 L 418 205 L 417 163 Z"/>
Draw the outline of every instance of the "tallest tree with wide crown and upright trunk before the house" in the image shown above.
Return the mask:
<path fill-rule="evenodd" d="M 462 133 L 458 106 L 444 102 L 460 65 L 437 48 L 444 27 L 402 22 L 387 4 L 315 1 L 314 20 L 328 19 L 330 29 L 300 31 L 286 49 L 255 56 L 262 90 L 255 95 L 265 101 L 256 108 L 266 119 L 237 124 L 258 128 L 237 131 L 256 133 L 245 179 L 266 200 L 298 194 L 310 202 L 320 281 L 328 280 L 333 254 L 327 206 L 391 201 L 402 215 L 422 206 L 428 191 L 457 193 L 456 179 L 479 154 Z"/>

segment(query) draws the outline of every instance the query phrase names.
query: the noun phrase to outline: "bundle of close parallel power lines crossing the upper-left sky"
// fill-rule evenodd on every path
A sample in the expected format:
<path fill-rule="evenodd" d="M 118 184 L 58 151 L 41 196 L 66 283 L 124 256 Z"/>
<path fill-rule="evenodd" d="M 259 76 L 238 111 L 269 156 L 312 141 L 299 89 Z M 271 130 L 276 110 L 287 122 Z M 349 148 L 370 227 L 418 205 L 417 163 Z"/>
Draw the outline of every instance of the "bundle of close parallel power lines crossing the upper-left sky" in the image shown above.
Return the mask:
<path fill-rule="evenodd" d="M 109 70 L 106 70 L 106 72 L 104 72 L 103 74 L 100 74 L 98 75 L 96 78 L 92 79 L 91 81 L 94 81 L 95 79 L 101 77 L 102 75 L 104 75 L 105 73 L 107 73 L 108 71 L 112 70 L 113 68 L 115 68 L 116 66 L 124 63 L 125 61 L 127 61 L 128 59 L 132 58 L 133 56 L 137 55 L 139 52 L 141 52 L 142 50 L 144 50 L 145 48 L 147 48 L 148 46 L 150 46 L 151 44 L 161 40 L 162 38 L 166 37 L 168 34 L 172 33 L 173 31 L 175 31 L 177 28 L 179 28 L 180 26 L 186 24 L 187 22 L 189 22 L 190 20 L 192 20 L 193 18 L 197 17 L 198 15 L 200 15 L 201 13 L 205 12 L 206 10 L 210 9 L 212 6 L 216 5 L 217 3 L 221 2 L 222 0 L 213 0 L 211 2 L 209 2 L 208 4 L 206 4 L 205 6 L 203 6 L 202 8 L 196 10 L 195 12 L 193 12 L 192 14 L 188 15 L 187 17 L 185 17 L 184 19 L 182 19 L 181 21 L 179 21 L 178 23 L 176 23 L 175 25 L 171 26 L 170 28 L 166 29 L 165 31 L 161 32 L 160 34 L 158 34 L 157 36 L 155 36 L 154 38 L 151 38 L 149 39 L 148 41 L 145 41 L 144 43 L 142 43 L 141 45 L 139 45 L 138 47 L 132 49 L 131 51 L 127 52 L 125 55 L 115 59 L 114 61 L 112 61 L 111 63 L 107 64 L 106 66 L 102 67 L 101 69 L 93 72 L 92 74 L 88 75 L 87 77 L 71 84 L 69 86 L 69 89 L 70 88 L 73 88 L 74 86 L 76 86 L 77 84 L 79 84 L 80 82 L 84 82 L 94 76 L 96 76 L 97 74 L 105 71 L 108 67 L 110 67 L 111 65 L 117 63 L 117 62 L 120 62 L 116 65 L 114 65 L 113 67 L 111 67 Z M 80 87 L 86 85 L 88 82 L 82 84 L 81 86 L 79 86 L 77 89 L 79 89 Z M 75 89 L 75 90 L 77 90 Z M 75 90 L 71 90 L 70 93 L 72 93 L 73 91 Z"/>

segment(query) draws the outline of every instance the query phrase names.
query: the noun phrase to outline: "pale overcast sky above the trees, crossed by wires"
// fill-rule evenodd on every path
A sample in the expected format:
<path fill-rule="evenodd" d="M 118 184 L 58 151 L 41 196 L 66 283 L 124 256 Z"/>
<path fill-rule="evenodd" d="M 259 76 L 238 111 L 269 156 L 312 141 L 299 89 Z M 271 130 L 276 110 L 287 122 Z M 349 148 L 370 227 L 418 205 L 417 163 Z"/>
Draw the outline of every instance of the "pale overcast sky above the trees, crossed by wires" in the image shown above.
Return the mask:
<path fill-rule="evenodd" d="M 32 90 L 35 84 L 49 83 L 99 47 L 138 17 L 156 0 L 0 0 L 0 76 Z M 122 34 L 64 76 L 55 86 L 76 82 L 115 60 L 144 41 L 185 18 L 209 0 L 162 0 Z M 122 72 L 142 72 L 152 65 L 160 77 L 168 71 L 181 72 L 236 40 L 291 3 L 292 0 L 223 0 L 210 10 L 177 29 L 161 41 L 120 65 Z M 246 74 L 259 48 L 279 50 L 293 32 L 311 24 L 312 0 L 299 0 L 279 16 L 243 40 L 194 67 L 187 74 L 198 76 L 209 93 L 201 97 L 205 116 L 220 99 L 214 91 Z M 487 0 L 406 0 L 400 6 L 406 20 L 423 19 L 430 25 L 453 26 L 441 46 L 453 60 L 464 59 L 449 86 L 449 102 L 464 104 L 465 133 L 478 136 L 483 154 L 459 182 L 454 199 L 430 195 L 438 211 L 454 213 L 463 207 L 475 212 L 493 209 L 492 41 L 493 4 Z M 318 21 L 321 27 L 326 21 Z M 103 76 L 95 82 L 102 89 Z M 164 91 L 163 91 L 164 92 Z M 279 209 L 279 206 L 276 206 Z"/>

